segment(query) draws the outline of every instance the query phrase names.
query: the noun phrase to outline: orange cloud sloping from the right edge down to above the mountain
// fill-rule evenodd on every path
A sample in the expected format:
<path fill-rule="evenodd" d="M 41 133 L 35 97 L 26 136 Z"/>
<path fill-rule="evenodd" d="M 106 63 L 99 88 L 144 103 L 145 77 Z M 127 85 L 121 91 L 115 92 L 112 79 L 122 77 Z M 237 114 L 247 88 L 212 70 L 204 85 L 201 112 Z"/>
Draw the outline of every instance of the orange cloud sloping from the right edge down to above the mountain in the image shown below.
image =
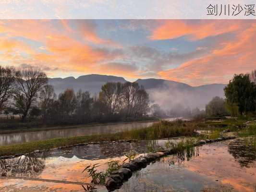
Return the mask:
<path fill-rule="evenodd" d="M 243 26 L 244 27 L 244 26 Z M 175 69 L 158 72 L 162 78 L 191 85 L 228 83 L 234 73 L 256 68 L 256 24 L 248 24 L 235 40 L 227 40 L 210 54 L 184 62 Z"/>

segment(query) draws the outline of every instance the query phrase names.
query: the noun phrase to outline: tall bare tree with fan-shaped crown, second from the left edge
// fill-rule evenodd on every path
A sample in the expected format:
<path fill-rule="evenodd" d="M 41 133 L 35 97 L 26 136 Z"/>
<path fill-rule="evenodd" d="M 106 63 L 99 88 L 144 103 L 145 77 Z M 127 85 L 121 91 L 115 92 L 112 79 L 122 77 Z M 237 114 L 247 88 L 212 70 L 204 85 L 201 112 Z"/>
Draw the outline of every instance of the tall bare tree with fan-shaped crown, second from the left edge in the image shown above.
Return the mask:
<path fill-rule="evenodd" d="M 26 119 L 31 105 L 37 101 L 38 92 L 40 89 L 47 84 L 48 79 L 44 72 L 37 68 L 29 68 L 19 70 L 16 73 L 17 81 L 17 92 L 14 96 L 14 100 L 18 101 L 19 105 L 16 107 L 23 106 L 19 108 L 22 112 L 22 120 Z"/>

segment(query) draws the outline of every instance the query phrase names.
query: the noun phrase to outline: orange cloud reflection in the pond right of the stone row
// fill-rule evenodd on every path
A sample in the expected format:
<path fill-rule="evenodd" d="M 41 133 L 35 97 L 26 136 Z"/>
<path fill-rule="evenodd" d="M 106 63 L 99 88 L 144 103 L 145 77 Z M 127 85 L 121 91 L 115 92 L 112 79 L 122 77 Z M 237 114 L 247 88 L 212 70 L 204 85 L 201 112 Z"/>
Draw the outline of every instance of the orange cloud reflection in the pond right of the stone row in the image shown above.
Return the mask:
<path fill-rule="evenodd" d="M 199 148 L 199 158 L 185 162 L 188 170 L 205 175 L 241 192 L 253 192 L 256 168 L 241 168 L 223 144 L 204 145 Z"/>

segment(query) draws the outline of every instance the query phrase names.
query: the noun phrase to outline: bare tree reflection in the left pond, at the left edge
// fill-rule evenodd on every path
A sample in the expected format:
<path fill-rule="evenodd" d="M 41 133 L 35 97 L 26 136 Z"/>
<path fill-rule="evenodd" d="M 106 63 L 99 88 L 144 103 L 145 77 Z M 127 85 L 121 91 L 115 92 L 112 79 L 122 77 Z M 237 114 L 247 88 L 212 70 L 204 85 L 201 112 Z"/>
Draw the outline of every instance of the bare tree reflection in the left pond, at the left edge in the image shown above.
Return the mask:
<path fill-rule="evenodd" d="M 44 169 L 44 162 L 35 154 L 19 156 L 12 159 L 0 159 L 1 176 L 36 176 Z"/>

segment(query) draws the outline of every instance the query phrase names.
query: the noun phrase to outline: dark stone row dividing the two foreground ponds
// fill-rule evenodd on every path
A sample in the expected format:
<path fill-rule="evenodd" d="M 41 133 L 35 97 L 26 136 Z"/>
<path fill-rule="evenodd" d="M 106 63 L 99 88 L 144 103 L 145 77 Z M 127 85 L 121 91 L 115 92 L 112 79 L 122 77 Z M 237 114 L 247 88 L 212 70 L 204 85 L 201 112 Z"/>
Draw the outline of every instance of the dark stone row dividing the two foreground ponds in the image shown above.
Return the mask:
<path fill-rule="evenodd" d="M 228 139 L 235 139 L 236 137 L 233 136 L 226 136 L 221 137 L 218 139 L 206 139 L 206 140 L 199 140 L 195 143 L 195 146 L 206 144 L 206 143 L 213 143 L 219 142 Z M 122 168 L 111 172 L 110 176 L 105 180 L 105 186 L 109 191 L 113 191 L 122 185 L 122 183 L 128 180 L 134 171 L 140 170 L 141 168 L 146 168 L 146 166 L 159 159 L 162 156 L 172 155 L 174 154 L 174 150 L 162 150 L 157 153 L 149 153 L 144 157 L 139 157 L 129 163 L 122 165 Z"/>

